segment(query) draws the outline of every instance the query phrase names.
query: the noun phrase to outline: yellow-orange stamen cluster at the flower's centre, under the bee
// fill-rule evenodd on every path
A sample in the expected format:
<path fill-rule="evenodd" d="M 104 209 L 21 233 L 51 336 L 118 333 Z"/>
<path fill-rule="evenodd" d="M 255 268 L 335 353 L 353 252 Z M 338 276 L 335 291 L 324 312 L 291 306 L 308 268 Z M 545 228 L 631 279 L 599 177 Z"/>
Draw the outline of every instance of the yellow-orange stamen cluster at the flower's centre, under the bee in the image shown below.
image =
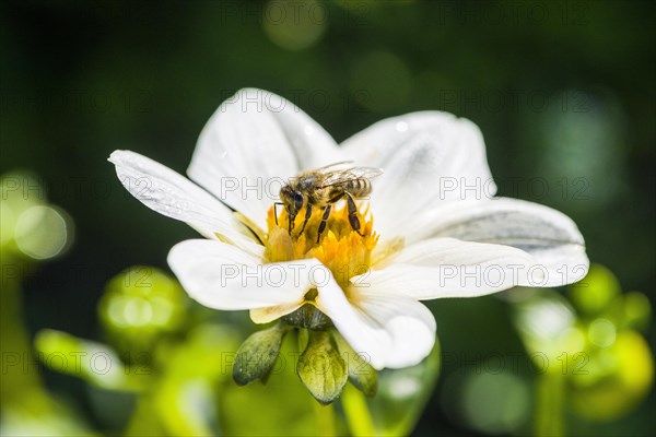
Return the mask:
<path fill-rule="evenodd" d="M 338 203 L 339 204 L 339 203 Z M 292 235 L 288 232 L 288 214 L 279 213 L 278 225 L 273 206 L 267 216 L 268 236 L 265 241 L 266 262 L 284 262 L 297 259 L 316 258 L 332 272 L 336 281 L 347 288 L 349 280 L 365 273 L 372 265 L 372 251 L 378 243 L 378 235 L 373 232 L 374 221 L 368 212 L 368 204 L 363 213 L 358 213 L 362 224 L 359 235 L 349 223 L 349 212 L 344 206 L 336 209 L 326 222 L 326 228 L 317 243 L 317 233 L 324 215 L 321 209 L 313 211 L 303 233 L 305 210 L 294 222 Z"/>

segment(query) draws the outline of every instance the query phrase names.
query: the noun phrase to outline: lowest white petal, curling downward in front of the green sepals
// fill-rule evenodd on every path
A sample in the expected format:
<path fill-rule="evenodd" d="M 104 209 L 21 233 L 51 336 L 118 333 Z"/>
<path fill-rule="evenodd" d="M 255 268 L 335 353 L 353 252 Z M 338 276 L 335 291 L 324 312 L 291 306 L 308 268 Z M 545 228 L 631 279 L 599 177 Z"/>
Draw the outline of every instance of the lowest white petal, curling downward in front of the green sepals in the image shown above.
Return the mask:
<path fill-rule="evenodd" d="M 350 291 L 352 304 L 339 285 L 330 281 L 318 287 L 316 304 L 373 367 L 400 368 L 420 363 L 435 344 L 433 315 L 410 298 L 375 292 Z"/>

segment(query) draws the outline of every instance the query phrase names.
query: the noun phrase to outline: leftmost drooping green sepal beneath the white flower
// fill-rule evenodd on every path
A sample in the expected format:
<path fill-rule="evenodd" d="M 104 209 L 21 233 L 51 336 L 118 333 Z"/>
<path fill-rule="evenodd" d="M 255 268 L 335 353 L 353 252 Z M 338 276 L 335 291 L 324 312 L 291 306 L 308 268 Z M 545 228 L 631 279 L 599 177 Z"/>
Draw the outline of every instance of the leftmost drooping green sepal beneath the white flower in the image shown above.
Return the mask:
<path fill-rule="evenodd" d="M 288 328 L 282 323 L 250 335 L 242 344 L 233 364 L 233 379 L 239 386 L 266 377 L 280 353 Z"/>

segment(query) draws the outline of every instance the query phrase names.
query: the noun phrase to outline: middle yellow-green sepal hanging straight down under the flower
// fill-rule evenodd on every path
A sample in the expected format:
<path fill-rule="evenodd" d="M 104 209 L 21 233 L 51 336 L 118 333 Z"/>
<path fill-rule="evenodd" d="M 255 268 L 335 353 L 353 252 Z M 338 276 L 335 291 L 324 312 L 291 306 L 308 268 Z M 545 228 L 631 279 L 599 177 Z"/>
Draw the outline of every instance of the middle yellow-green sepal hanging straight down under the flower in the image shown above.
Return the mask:
<path fill-rule="evenodd" d="M 311 331 L 307 347 L 298 357 L 298 377 L 313 397 L 324 405 L 335 401 L 348 380 L 347 363 L 332 336 Z"/>

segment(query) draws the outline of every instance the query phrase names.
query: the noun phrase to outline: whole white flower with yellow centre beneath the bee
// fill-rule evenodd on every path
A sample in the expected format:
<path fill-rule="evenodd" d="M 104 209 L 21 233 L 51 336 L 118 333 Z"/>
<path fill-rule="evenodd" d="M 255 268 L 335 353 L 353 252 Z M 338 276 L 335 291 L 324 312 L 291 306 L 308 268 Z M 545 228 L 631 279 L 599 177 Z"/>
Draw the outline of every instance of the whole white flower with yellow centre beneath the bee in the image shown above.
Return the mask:
<path fill-rule="evenodd" d="M 365 237 L 340 228 L 339 211 L 319 245 L 276 227 L 272 187 L 347 160 L 385 172 L 363 203 L 368 213 L 361 208 Z M 249 309 L 256 322 L 311 304 L 378 369 L 414 365 L 431 352 L 435 320 L 419 300 L 563 285 L 588 269 L 569 217 L 492 198 L 479 129 L 445 113 L 389 118 L 338 146 L 290 102 L 242 90 L 200 134 L 187 170 L 198 185 L 133 152 L 116 151 L 109 161 L 137 199 L 207 238 L 183 241 L 168 256 L 192 298 Z M 316 223 L 312 228 L 316 235 Z"/>

